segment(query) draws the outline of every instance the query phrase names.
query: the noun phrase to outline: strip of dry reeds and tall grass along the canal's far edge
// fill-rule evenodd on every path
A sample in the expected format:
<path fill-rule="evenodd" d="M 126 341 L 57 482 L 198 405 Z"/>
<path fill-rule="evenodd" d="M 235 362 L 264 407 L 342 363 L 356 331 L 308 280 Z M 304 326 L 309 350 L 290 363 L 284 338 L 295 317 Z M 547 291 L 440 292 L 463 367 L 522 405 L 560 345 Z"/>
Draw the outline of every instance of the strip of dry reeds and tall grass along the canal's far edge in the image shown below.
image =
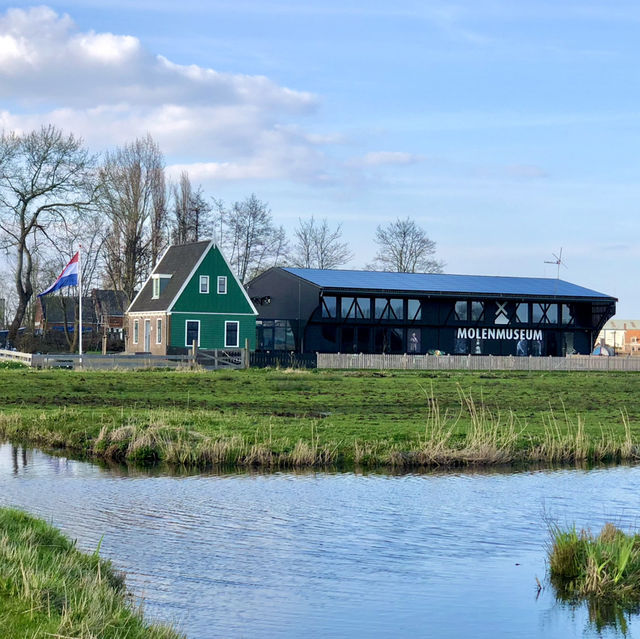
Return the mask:
<path fill-rule="evenodd" d="M 514 411 L 492 411 L 459 389 L 455 412 L 425 393 L 426 417 L 413 438 L 398 441 L 382 430 L 375 438 L 338 438 L 326 420 L 205 410 L 127 410 L 117 413 L 63 408 L 0 413 L 0 437 L 63 448 L 106 460 L 167 462 L 190 467 L 314 468 L 355 465 L 411 470 L 436 466 L 585 463 L 638 458 L 630 420 L 587 430 L 580 415 L 549 409 L 541 431 Z"/>

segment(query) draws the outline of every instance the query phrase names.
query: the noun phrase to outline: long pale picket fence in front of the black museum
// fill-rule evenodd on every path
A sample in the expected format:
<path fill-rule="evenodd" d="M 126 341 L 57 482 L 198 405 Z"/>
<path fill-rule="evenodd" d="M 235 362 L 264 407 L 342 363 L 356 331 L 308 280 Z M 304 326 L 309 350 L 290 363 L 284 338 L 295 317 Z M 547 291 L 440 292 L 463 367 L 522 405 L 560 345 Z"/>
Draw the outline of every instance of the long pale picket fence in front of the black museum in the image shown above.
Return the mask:
<path fill-rule="evenodd" d="M 513 357 L 318 353 L 318 368 L 471 371 L 640 371 L 640 357 Z"/>

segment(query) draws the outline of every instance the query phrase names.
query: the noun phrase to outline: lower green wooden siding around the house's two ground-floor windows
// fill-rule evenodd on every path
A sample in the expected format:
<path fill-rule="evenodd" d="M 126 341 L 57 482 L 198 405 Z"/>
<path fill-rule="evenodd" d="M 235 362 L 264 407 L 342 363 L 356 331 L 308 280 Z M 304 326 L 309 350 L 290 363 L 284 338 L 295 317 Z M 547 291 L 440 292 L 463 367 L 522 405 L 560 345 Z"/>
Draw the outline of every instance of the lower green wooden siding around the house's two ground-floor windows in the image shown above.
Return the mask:
<path fill-rule="evenodd" d="M 221 315 L 209 315 L 206 313 L 172 313 L 171 314 L 171 346 L 174 348 L 185 347 L 185 330 L 187 320 L 200 322 L 200 348 L 215 349 L 225 348 L 224 331 L 225 322 L 239 323 L 239 344 L 244 347 L 245 339 L 249 340 L 249 348 L 255 349 L 256 343 L 256 318 L 255 315 L 237 315 L 223 313 Z"/>

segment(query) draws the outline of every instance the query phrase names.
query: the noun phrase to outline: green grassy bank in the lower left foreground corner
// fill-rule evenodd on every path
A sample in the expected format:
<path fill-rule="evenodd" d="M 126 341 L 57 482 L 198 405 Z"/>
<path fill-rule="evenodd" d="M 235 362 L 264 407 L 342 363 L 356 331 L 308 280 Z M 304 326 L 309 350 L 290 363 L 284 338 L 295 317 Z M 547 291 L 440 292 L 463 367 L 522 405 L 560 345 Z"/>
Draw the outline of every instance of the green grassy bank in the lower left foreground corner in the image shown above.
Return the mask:
<path fill-rule="evenodd" d="M 5 639 L 179 639 L 147 623 L 123 578 L 52 526 L 0 509 L 0 633 Z"/>

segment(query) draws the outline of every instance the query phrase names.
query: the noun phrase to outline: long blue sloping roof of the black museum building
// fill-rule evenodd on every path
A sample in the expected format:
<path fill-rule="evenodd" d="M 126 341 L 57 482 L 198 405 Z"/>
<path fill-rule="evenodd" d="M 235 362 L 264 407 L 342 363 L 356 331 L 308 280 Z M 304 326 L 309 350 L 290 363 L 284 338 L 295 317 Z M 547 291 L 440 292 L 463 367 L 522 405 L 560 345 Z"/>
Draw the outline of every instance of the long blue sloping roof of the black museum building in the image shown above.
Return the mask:
<path fill-rule="evenodd" d="M 610 295 L 564 280 L 544 277 L 386 273 L 313 268 L 284 268 L 283 270 L 323 289 L 615 300 Z"/>

